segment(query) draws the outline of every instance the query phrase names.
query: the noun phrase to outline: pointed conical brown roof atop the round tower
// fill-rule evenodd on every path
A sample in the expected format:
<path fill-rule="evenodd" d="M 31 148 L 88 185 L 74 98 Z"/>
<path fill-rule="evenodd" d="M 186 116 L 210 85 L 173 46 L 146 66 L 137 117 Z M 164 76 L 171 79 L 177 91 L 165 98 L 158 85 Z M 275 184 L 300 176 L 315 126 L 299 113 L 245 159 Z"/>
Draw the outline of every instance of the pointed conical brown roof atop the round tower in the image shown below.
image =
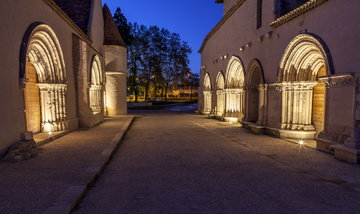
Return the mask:
<path fill-rule="evenodd" d="M 104 45 L 118 45 L 126 47 L 119 30 L 115 24 L 114 18 L 111 15 L 109 7 L 105 4 L 103 8 L 104 14 Z"/>

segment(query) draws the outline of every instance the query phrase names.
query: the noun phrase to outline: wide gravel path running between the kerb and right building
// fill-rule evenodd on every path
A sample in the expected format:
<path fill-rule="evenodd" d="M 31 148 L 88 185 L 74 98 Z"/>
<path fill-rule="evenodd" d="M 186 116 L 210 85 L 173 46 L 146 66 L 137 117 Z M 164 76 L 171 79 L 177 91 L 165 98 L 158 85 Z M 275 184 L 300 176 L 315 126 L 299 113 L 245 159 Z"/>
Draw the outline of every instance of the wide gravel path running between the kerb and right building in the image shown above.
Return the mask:
<path fill-rule="evenodd" d="M 359 181 L 358 165 L 311 148 L 204 116 L 137 112 L 74 213 L 356 213 Z"/>

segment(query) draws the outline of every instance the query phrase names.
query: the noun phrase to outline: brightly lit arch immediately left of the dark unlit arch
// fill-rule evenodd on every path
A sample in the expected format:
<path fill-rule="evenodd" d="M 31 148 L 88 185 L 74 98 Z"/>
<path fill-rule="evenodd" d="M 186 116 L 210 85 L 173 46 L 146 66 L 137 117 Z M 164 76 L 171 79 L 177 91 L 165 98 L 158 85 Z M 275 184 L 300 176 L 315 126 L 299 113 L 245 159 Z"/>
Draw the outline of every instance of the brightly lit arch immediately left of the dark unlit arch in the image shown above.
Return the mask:
<path fill-rule="evenodd" d="M 225 117 L 242 120 L 244 116 L 244 67 L 238 57 L 231 57 L 225 78 Z"/>

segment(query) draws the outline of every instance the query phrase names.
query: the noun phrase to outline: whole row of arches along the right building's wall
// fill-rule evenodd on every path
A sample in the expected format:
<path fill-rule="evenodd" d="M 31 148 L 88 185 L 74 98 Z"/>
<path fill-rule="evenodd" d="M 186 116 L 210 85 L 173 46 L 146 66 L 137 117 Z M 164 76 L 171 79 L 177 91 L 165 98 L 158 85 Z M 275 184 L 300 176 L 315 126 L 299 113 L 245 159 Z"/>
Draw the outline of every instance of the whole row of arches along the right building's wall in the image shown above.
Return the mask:
<path fill-rule="evenodd" d="M 269 88 L 275 88 L 279 109 L 280 137 L 314 139 L 324 130 L 325 84 L 319 77 L 328 71 L 327 56 L 320 42 L 310 35 L 299 35 L 286 48 L 280 62 L 277 83 L 264 81 L 260 62 L 249 63 L 247 75 L 240 58 L 233 56 L 226 75 L 220 71 L 215 82 L 216 103 L 211 103 L 209 74 L 204 79 L 204 113 L 253 126 L 268 126 Z M 272 112 L 273 113 L 273 112 Z"/>

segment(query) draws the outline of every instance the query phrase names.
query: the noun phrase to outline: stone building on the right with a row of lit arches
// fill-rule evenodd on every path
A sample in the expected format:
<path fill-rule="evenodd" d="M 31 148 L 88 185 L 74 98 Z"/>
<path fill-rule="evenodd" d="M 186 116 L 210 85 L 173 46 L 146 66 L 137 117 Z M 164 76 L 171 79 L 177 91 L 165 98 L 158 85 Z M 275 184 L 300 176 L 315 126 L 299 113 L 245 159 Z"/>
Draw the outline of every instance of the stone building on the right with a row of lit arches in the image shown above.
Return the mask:
<path fill-rule="evenodd" d="M 360 162 L 360 1 L 216 0 L 199 111 Z"/>

